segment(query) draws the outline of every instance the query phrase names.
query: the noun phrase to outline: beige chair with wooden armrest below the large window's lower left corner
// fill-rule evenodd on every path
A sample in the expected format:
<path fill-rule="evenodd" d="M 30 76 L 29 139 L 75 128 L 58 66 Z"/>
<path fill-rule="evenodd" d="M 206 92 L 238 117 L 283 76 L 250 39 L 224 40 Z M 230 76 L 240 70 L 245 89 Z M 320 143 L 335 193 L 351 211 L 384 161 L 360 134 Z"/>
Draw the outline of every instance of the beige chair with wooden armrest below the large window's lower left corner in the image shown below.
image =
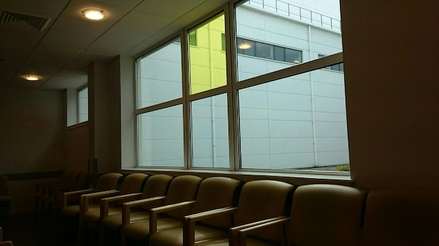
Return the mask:
<path fill-rule="evenodd" d="M 96 192 L 91 194 L 85 194 L 81 196 L 81 211 L 79 212 L 79 231 L 78 231 L 78 242 L 79 245 L 83 244 L 84 240 L 84 231 L 88 224 L 93 223 L 95 225 L 99 225 L 100 219 L 102 217 L 106 217 L 109 215 L 116 214 L 121 211 L 121 205 L 123 201 L 130 201 L 135 196 L 140 196 L 142 193 L 142 188 L 144 186 L 144 182 L 147 180 L 148 175 L 144 173 L 133 173 L 126 178 L 123 179 L 121 188 L 118 191 L 112 192 Z M 113 196 L 121 196 L 125 195 L 124 200 L 118 199 L 116 204 L 113 204 L 110 207 L 104 205 L 102 198 L 109 198 Z M 90 201 L 94 199 L 100 199 L 100 207 L 90 209 Z M 108 201 L 109 202 L 109 201 Z"/>

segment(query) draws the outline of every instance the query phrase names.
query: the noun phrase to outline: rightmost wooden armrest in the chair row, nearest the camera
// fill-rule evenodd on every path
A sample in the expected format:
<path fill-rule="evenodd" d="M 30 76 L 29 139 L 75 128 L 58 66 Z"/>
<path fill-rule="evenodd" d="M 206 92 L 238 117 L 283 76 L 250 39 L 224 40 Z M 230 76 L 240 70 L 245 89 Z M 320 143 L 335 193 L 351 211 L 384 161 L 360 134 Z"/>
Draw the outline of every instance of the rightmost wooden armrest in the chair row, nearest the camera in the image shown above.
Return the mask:
<path fill-rule="evenodd" d="M 264 229 L 266 227 L 271 227 L 278 224 L 287 224 L 289 221 L 290 221 L 290 217 L 280 216 L 280 217 L 264 219 L 259 222 L 253 222 L 242 226 L 236 226 L 230 229 L 229 242 L 235 243 L 236 245 L 240 245 L 240 246 L 246 246 L 247 245 L 246 237 L 249 234 L 255 233 L 255 231 Z"/>

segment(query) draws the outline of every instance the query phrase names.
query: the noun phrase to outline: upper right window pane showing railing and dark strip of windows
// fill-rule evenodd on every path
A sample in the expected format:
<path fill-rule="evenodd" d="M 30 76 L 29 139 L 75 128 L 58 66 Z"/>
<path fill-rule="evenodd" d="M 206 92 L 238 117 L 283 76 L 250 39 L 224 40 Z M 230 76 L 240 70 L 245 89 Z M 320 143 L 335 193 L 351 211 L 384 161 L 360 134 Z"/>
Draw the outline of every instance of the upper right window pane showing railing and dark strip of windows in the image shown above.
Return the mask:
<path fill-rule="evenodd" d="M 339 0 L 244 1 L 236 36 L 238 81 L 342 52 Z"/>

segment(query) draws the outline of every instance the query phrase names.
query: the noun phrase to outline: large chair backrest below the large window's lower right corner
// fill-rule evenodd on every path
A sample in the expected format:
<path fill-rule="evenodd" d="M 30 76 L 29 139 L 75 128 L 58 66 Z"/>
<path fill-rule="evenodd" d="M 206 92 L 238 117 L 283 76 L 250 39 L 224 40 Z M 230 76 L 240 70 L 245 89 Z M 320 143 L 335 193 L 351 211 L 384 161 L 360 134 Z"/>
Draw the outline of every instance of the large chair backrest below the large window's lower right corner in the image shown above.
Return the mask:
<path fill-rule="evenodd" d="M 292 198 L 293 245 L 358 245 L 367 192 L 337 184 L 297 187 Z"/>

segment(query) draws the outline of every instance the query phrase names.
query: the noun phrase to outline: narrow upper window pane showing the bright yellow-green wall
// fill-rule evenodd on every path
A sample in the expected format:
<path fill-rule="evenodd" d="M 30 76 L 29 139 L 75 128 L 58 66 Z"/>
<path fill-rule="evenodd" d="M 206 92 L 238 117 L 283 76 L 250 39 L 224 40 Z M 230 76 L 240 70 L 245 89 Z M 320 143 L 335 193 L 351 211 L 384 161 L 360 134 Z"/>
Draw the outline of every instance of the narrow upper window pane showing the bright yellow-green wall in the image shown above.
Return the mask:
<path fill-rule="evenodd" d="M 227 84 L 226 53 L 222 50 L 224 26 L 222 14 L 189 30 L 189 34 L 196 32 L 197 38 L 197 45 L 189 48 L 191 94 Z"/>

